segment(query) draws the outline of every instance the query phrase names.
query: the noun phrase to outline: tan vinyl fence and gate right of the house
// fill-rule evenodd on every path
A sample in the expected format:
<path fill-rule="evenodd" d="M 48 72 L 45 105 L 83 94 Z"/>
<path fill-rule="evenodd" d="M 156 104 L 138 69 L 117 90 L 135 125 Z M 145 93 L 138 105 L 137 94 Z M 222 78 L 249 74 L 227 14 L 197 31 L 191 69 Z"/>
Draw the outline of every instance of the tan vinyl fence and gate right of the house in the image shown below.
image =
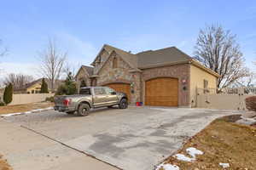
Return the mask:
<path fill-rule="evenodd" d="M 256 96 L 256 88 L 225 88 L 220 92 L 213 88 L 197 88 L 196 94 L 197 107 L 246 111 L 245 99 Z"/>

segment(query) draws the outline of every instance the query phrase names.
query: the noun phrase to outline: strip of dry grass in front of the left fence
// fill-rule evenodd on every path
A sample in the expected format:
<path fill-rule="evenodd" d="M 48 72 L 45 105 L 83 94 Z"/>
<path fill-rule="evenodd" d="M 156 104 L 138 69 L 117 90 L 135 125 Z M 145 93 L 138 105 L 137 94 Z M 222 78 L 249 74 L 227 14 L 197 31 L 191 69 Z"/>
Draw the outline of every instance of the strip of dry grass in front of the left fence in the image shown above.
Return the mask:
<path fill-rule="evenodd" d="M 7 114 L 7 113 L 32 111 L 35 109 L 44 109 L 47 107 L 51 107 L 53 105 L 54 103 L 49 103 L 49 102 L 31 103 L 31 104 L 23 104 L 23 105 L 5 105 L 5 106 L 0 106 L 0 115 Z"/>

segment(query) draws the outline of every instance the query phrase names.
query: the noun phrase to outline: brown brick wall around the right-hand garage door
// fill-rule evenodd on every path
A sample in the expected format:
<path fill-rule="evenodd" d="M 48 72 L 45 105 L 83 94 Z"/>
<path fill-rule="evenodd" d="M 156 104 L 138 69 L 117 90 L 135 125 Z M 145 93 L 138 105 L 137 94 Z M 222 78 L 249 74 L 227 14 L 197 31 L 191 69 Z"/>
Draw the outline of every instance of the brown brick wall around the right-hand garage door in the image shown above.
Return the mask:
<path fill-rule="evenodd" d="M 142 88 L 143 100 L 145 95 L 145 82 L 156 77 L 173 77 L 178 79 L 178 105 L 189 106 L 189 64 L 172 65 L 143 70 Z M 183 82 L 185 80 L 186 82 Z M 183 88 L 186 89 L 183 89 Z"/>

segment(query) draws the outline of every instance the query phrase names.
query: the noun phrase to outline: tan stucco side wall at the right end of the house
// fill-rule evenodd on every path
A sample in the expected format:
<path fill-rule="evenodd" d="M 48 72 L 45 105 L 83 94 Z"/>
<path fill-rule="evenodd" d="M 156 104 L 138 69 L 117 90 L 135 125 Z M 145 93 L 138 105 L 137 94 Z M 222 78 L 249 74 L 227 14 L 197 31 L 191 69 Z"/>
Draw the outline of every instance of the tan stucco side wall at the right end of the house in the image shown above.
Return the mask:
<path fill-rule="evenodd" d="M 190 65 L 190 103 L 196 106 L 196 88 L 204 88 L 204 80 L 208 81 L 208 88 L 217 88 L 217 77 L 207 71 Z"/>

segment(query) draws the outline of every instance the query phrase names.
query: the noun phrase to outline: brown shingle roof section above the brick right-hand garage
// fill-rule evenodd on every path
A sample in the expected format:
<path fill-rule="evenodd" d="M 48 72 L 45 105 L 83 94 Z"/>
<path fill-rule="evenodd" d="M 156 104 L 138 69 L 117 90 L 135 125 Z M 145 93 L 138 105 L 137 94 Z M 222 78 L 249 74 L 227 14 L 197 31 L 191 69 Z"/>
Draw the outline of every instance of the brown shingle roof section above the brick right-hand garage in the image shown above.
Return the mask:
<path fill-rule="evenodd" d="M 148 50 L 137 54 L 138 67 L 147 67 L 151 65 L 161 65 L 181 61 L 189 61 L 192 58 L 184 54 L 176 47 L 162 48 L 158 50 Z"/>

